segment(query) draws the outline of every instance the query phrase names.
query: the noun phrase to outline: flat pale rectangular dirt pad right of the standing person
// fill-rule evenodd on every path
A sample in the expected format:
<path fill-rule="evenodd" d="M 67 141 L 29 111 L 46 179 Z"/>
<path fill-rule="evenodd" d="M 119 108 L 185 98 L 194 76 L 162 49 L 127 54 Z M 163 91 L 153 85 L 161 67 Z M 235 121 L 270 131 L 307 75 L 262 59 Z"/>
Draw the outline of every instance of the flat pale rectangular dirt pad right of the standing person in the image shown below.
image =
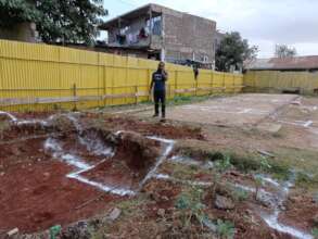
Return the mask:
<path fill-rule="evenodd" d="M 244 93 L 169 109 L 167 118 L 200 124 L 242 126 L 257 124 L 298 97 Z M 144 115 L 150 115 L 149 112 Z"/>

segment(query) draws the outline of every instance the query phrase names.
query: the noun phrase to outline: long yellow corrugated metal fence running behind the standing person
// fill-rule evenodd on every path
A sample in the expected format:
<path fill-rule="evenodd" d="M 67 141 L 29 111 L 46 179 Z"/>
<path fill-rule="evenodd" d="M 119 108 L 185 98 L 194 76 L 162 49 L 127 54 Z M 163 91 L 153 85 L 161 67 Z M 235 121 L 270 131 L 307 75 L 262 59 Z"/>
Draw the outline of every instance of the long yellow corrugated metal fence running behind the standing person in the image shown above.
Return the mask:
<path fill-rule="evenodd" d="M 157 62 L 48 45 L 0 40 L 0 109 L 50 111 L 149 100 Z M 243 76 L 167 64 L 167 95 L 234 93 Z"/>

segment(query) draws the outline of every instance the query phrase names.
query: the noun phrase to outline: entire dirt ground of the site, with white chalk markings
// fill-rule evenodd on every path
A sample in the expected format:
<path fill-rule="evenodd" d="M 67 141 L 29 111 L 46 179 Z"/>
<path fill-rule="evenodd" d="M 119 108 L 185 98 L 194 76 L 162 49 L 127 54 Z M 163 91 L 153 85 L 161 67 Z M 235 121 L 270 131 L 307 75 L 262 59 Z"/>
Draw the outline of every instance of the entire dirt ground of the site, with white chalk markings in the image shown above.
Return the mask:
<path fill-rule="evenodd" d="M 195 99 L 194 99 L 195 101 Z M 315 238 L 318 98 L 0 112 L 0 238 Z M 260 178 L 260 179 L 259 179 Z M 52 232 L 52 231 L 51 231 Z"/>

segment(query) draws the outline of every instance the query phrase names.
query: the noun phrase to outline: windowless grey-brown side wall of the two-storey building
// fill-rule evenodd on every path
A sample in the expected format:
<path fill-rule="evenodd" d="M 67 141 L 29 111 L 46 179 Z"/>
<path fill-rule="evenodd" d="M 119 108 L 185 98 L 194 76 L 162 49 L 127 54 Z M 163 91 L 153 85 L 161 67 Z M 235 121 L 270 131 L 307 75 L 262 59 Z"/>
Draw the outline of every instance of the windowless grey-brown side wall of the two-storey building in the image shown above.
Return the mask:
<path fill-rule="evenodd" d="M 168 9 L 164 11 L 163 18 L 163 43 L 167 61 L 215 60 L 215 22 Z"/>

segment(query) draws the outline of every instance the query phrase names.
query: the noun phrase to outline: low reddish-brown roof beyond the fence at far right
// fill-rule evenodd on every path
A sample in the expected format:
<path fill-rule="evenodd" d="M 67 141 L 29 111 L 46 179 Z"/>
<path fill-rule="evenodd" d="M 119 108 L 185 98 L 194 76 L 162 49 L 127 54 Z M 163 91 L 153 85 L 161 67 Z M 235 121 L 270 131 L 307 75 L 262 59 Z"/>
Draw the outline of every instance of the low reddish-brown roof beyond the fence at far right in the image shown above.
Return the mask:
<path fill-rule="evenodd" d="M 246 70 L 318 70 L 318 55 L 256 59 L 245 62 Z"/>

